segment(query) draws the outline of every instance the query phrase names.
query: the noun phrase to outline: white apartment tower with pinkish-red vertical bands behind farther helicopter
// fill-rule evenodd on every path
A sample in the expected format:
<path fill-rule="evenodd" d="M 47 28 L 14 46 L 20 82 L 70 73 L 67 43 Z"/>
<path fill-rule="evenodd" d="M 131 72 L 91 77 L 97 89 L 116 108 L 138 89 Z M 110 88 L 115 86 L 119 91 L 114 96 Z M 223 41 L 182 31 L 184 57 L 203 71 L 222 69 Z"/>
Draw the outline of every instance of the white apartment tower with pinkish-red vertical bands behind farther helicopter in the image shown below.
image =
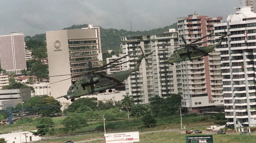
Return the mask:
<path fill-rule="evenodd" d="M 210 18 L 192 14 L 188 17 L 177 18 L 179 44 L 183 45 L 181 35 L 187 44 L 214 32 L 214 23 L 220 23 L 222 17 Z M 214 44 L 207 42 L 214 40 L 214 35 L 199 42 L 198 47 Z M 208 110 L 218 110 L 223 108 L 223 91 L 221 77 L 220 52 L 213 51 L 209 56 L 200 59 L 175 63 L 180 67 L 183 86 L 182 107 L 187 113 L 201 113 Z M 222 108 L 219 108 L 222 106 Z M 223 109 L 222 109 L 223 110 Z"/>

